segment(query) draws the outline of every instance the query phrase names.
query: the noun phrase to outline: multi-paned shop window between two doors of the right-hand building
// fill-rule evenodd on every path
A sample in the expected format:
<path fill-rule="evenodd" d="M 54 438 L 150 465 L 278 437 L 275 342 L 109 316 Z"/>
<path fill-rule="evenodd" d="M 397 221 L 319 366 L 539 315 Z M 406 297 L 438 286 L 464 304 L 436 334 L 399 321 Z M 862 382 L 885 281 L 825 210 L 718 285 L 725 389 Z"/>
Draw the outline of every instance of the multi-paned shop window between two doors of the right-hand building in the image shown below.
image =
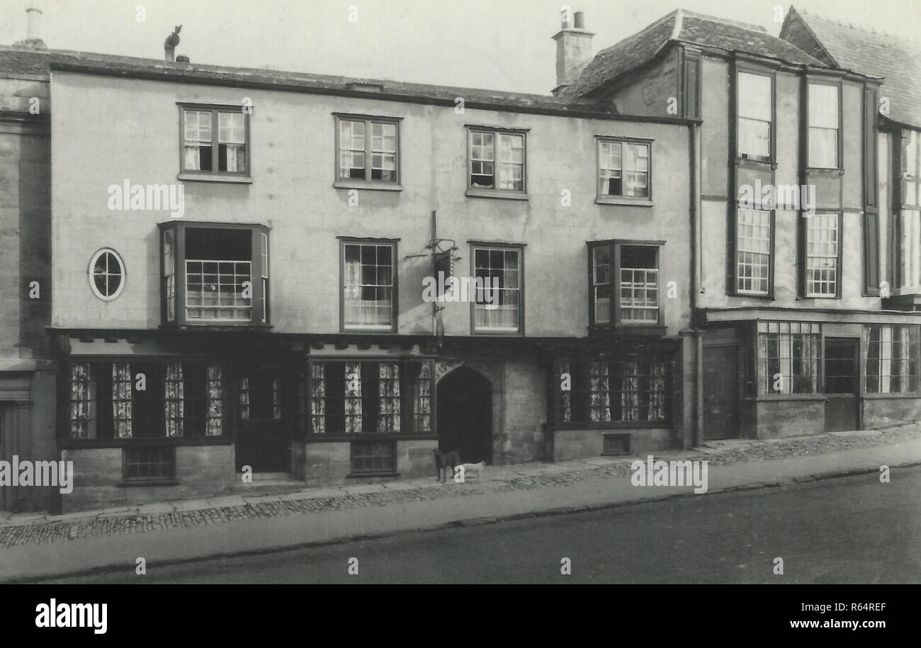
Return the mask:
<path fill-rule="evenodd" d="M 818 394 L 822 328 L 815 322 L 758 322 L 756 363 L 762 394 Z"/>

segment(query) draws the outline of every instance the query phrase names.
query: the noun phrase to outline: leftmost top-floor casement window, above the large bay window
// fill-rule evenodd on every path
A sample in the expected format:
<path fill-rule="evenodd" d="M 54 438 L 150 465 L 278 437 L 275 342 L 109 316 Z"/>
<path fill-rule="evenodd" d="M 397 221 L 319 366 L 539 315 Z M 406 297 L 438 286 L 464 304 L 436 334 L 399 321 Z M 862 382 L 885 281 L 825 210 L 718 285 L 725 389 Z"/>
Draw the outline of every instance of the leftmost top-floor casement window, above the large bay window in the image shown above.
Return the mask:
<path fill-rule="evenodd" d="M 182 104 L 181 171 L 246 176 L 249 172 L 250 115 L 240 106 Z"/>

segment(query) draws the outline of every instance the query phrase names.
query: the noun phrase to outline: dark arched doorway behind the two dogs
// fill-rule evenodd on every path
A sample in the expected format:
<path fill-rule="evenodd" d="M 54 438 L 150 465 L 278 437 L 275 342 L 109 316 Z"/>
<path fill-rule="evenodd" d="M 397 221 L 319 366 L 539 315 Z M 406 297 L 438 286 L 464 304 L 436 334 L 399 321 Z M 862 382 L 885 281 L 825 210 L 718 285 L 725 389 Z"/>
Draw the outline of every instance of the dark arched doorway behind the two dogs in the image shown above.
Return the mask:
<path fill-rule="evenodd" d="M 493 463 L 493 386 L 461 366 L 441 378 L 437 390 L 438 447 L 457 450 L 465 462 Z"/>

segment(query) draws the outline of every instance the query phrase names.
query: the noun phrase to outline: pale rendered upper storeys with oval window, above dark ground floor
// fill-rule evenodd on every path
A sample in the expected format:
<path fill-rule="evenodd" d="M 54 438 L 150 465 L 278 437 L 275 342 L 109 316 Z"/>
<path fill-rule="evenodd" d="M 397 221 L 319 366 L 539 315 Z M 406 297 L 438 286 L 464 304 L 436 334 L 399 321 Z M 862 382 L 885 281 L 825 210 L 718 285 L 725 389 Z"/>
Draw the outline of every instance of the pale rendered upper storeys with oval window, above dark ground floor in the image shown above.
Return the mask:
<path fill-rule="evenodd" d="M 454 274 L 499 282 L 493 305 L 444 304 L 448 336 L 690 321 L 693 120 L 96 54 L 0 65 L 23 56 L 51 71 L 56 328 L 431 335 L 433 212 Z"/>

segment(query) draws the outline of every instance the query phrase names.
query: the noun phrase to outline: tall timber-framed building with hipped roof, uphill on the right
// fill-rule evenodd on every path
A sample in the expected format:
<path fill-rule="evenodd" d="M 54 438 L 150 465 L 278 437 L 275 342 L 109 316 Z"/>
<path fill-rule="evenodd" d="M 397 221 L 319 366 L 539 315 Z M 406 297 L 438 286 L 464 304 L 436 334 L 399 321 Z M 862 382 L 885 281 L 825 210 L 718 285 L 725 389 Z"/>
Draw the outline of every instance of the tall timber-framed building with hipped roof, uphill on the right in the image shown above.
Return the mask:
<path fill-rule="evenodd" d="M 573 66 L 555 91 L 703 119 L 697 440 L 854 430 L 921 408 L 917 122 L 907 117 L 917 75 L 874 64 L 866 34 L 822 39 L 821 24 L 791 10 L 776 38 L 678 10 Z M 904 60 L 899 46 L 886 61 Z M 886 81 L 899 97 L 888 118 L 881 75 L 897 76 Z M 888 170 L 900 168 L 899 133 L 901 185 Z"/>

